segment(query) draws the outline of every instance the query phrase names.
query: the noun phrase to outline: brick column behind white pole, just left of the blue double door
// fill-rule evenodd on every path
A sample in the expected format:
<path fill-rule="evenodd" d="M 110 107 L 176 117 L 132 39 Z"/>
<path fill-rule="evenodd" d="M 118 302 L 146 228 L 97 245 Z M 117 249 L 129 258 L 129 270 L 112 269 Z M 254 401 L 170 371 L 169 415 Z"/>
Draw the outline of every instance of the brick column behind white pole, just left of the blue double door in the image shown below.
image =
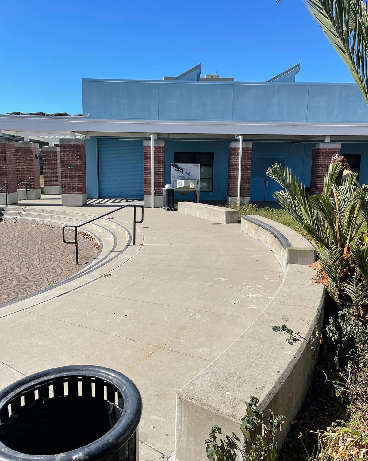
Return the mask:
<path fill-rule="evenodd" d="M 240 183 L 240 203 L 248 203 L 250 195 L 250 169 L 252 165 L 253 142 L 243 141 L 242 170 Z M 227 178 L 227 201 L 229 204 L 238 200 L 239 142 L 229 144 L 229 169 Z"/>

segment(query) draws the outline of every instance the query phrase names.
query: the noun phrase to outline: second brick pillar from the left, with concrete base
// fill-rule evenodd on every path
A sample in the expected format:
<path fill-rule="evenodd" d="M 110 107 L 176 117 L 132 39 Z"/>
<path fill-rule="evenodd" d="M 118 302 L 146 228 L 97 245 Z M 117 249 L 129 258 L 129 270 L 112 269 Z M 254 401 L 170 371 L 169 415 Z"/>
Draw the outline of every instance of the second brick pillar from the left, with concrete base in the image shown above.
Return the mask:
<path fill-rule="evenodd" d="M 16 142 L 15 159 L 17 163 L 17 183 L 28 182 L 18 186 L 18 199 L 35 200 L 41 198 L 39 146 L 36 142 Z M 26 193 L 26 187 L 30 187 Z"/>

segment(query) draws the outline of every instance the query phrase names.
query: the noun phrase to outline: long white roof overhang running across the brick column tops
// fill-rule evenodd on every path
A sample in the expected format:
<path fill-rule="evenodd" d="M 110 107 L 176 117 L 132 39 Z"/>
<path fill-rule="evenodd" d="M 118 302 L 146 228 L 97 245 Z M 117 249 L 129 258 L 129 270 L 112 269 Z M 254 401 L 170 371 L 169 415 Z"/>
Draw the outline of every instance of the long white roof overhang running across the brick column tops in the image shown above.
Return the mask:
<path fill-rule="evenodd" d="M 121 133 L 208 134 L 244 136 L 334 136 L 368 139 L 368 123 L 206 122 L 165 120 L 112 120 L 77 117 L 0 115 L 0 130 L 53 136 L 119 136 Z"/>

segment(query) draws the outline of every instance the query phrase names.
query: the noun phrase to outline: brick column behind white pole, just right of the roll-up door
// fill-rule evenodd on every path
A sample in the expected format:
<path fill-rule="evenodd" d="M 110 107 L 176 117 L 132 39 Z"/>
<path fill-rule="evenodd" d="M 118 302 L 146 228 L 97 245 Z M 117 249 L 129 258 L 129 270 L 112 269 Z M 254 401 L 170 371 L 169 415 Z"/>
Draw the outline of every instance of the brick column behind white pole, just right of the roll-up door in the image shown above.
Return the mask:
<path fill-rule="evenodd" d="M 154 206 L 162 207 L 162 188 L 165 187 L 165 142 L 155 141 L 154 144 Z M 143 204 L 145 207 L 151 207 L 151 142 L 143 142 L 143 163 L 144 163 L 144 197 Z"/>

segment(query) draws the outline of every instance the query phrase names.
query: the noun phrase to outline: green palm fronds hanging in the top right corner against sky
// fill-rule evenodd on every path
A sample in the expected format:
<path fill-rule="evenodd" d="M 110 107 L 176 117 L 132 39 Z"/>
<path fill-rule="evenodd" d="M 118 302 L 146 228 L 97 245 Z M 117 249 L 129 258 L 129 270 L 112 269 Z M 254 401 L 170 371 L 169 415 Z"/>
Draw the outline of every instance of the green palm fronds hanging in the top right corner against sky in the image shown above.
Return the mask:
<path fill-rule="evenodd" d="M 282 0 L 276 0 L 278 3 Z M 368 104 L 368 12 L 363 0 L 304 0 Z"/>

